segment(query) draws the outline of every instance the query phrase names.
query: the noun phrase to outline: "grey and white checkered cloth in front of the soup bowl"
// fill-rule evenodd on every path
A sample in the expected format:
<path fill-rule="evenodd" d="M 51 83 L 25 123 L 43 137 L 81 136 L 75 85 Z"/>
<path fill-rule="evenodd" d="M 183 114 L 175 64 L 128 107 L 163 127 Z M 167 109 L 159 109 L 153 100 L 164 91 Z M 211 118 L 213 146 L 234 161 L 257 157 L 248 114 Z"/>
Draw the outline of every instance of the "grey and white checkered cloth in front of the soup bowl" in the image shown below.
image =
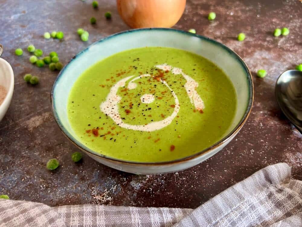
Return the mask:
<path fill-rule="evenodd" d="M 290 177 L 285 163 L 267 166 L 194 210 L 0 199 L 0 226 L 302 226 L 302 181 Z"/>

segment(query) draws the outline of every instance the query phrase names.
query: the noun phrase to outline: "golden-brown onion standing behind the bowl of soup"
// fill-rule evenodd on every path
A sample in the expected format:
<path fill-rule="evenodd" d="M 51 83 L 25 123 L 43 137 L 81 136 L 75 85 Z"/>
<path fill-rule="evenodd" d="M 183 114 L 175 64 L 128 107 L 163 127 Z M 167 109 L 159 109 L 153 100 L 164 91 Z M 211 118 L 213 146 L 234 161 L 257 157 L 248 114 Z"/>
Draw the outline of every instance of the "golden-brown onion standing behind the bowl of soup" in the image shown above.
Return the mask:
<path fill-rule="evenodd" d="M 131 28 L 171 28 L 181 18 L 186 0 L 117 0 L 121 18 Z"/>

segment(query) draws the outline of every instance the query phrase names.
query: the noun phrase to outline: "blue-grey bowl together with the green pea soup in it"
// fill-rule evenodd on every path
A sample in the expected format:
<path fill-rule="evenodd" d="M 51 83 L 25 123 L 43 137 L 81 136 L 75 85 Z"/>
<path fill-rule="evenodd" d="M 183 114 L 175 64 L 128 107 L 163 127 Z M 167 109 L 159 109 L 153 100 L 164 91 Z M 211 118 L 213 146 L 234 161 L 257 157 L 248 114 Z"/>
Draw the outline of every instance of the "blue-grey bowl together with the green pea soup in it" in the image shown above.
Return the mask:
<path fill-rule="evenodd" d="M 95 42 L 51 91 L 63 133 L 104 165 L 136 174 L 187 169 L 243 127 L 253 83 L 243 60 L 212 39 L 168 28 Z"/>

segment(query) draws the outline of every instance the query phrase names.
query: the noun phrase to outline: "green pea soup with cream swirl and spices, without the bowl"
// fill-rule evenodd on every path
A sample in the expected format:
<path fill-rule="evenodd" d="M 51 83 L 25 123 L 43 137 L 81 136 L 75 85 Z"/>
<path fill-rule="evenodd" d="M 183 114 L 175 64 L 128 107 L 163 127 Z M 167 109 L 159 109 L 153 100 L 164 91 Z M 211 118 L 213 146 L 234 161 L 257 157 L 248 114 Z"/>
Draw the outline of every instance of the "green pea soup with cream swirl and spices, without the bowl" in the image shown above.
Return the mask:
<path fill-rule="evenodd" d="M 236 111 L 229 78 L 209 60 L 161 47 L 127 50 L 88 68 L 67 105 L 85 146 L 121 160 L 181 159 L 218 142 Z"/>

